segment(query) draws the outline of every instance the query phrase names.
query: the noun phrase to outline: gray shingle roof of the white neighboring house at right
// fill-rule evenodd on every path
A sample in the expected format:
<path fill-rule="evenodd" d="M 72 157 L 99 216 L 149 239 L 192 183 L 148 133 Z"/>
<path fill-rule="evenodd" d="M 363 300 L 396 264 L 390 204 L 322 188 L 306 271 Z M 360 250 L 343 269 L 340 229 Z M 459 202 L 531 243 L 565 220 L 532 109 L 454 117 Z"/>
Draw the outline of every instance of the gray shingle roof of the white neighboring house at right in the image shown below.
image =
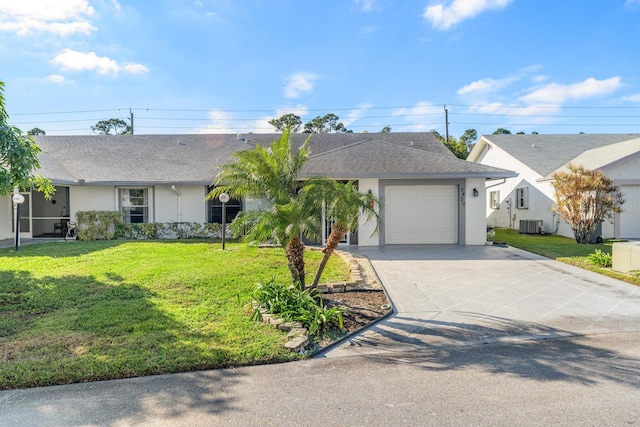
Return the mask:
<path fill-rule="evenodd" d="M 587 150 L 640 138 L 640 134 L 484 135 L 541 176 L 548 176 Z"/>

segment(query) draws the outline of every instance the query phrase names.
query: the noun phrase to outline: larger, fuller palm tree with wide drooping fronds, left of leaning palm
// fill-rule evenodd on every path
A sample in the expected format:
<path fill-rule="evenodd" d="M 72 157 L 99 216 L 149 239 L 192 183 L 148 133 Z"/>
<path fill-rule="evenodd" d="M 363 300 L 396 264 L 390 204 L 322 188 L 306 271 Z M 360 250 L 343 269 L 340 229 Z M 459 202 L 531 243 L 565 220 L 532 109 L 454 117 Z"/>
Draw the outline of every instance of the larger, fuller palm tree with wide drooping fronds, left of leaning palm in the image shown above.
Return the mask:
<path fill-rule="evenodd" d="M 246 231 L 250 241 L 272 241 L 285 248 L 293 282 L 305 286 L 304 244 L 301 236 L 320 235 L 322 196 L 318 192 L 332 181 L 312 178 L 300 181 L 307 158 L 309 138 L 294 152 L 289 130 L 269 147 L 233 154 L 234 163 L 221 166 L 208 199 L 227 193 L 233 198 L 254 198 L 267 202 L 267 208 L 245 211 L 231 224 L 236 234 Z"/>

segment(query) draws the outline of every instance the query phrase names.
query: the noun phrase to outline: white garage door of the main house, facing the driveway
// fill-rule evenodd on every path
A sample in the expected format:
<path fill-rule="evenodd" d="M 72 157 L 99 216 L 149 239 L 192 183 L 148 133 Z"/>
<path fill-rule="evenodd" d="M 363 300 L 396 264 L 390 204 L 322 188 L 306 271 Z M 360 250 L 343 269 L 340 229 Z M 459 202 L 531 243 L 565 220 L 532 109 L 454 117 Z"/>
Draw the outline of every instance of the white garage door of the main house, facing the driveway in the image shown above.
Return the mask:
<path fill-rule="evenodd" d="M 386 244 L 458 243 L 457 185 L 385 187 Z"/>

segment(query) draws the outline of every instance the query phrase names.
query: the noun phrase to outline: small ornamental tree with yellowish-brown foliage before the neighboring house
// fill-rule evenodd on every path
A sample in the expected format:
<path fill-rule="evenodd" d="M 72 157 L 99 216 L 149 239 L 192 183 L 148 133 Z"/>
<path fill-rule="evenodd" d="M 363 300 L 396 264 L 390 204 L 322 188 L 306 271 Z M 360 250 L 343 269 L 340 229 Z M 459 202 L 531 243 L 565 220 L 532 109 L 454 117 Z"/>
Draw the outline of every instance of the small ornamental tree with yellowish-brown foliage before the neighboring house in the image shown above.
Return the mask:
<path fill-rule="evenodd" d="M 590 243 L 598 225 L 621 212 L 624 199 L 613 179 L 601 170 L 572 164 L 568 168 L 553 174 L 554 210 L 571 226 L 576 242 Z"/>

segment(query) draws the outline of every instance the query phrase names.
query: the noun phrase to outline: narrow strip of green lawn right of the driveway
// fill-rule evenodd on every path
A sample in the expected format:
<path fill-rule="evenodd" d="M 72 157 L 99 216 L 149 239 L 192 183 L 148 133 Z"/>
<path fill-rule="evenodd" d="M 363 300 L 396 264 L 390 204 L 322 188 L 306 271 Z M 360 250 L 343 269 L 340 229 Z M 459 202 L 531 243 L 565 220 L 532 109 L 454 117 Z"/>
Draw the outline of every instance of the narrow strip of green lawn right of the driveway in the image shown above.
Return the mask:
<path fill-rule="evenodd" d="M 547 258 L 595 271 L 596 273 L 623 280 L 634 285 L 640 285 L 640 277 L 637 275 L 621 274 L 609 268 L 598 267 L 587 259 L 596 249 L 610 254 L 613 244 L 612 241 L 605 241 L 601 244 L 582 245 L 576 243 L 575 239 L 569 239 L 563 236 L 520 234 L 517 230 L 506 228 L 496 228 L 495 232 L 496 237 L 494 240 L 496 242 L 506 242 L 508 245 L 546 256 Z"/>

